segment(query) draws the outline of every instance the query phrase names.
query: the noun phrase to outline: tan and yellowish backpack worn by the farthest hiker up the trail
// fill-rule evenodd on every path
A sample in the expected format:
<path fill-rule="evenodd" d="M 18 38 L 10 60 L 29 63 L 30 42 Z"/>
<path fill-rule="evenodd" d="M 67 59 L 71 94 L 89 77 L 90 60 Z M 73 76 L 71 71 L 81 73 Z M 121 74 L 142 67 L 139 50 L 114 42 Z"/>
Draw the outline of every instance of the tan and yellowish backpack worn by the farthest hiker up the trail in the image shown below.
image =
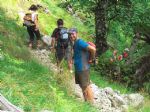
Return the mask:
<path fill-rule="evenodd" d="M 26 13 L 24 16 L 24 26 L 30 27 L 30 26 L 34 26 L 35 23 L 34 21 L 32 21 L 32 13 Z"/>

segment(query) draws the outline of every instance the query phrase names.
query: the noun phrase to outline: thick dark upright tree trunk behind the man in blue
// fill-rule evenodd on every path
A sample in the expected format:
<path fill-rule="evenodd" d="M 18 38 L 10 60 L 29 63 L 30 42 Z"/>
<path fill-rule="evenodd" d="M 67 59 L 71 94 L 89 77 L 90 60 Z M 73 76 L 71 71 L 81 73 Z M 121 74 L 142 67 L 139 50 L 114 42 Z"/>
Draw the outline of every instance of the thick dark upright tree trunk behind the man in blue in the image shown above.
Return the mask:
<path fill-rule="evenodd" d="M 108 49 L 106 42 L 106 0 L 99 0 L 95 9 L 95 31 L 97 55 Z"/>

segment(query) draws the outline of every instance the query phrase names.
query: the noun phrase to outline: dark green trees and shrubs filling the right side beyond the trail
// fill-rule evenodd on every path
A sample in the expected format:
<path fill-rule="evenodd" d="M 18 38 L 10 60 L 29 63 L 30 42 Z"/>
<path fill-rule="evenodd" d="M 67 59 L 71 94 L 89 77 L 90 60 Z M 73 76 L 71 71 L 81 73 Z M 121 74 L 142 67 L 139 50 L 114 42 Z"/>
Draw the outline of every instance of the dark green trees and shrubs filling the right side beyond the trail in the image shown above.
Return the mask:
<path fill-rule="evenodd" d="M 119 81 L 126 82 L 135 89 L 144 87 L 149 92 L 150 22 L 147 15 L 150 12 L 150 2 L 70 0 L 69 3 L 75 7 L 75 10 L 82 9 L 85 14 L 95 18 L 95 41 L 100 61 L 97 70 L 107 74 L 111 79 L 117 76 Z M 119 56 L 125 48 L 130 50 L 129 57 L 111 63 L 113 51 L 117 50 Z M 115 73 L 116 69 L 118 69 L 117 73 Z"/>

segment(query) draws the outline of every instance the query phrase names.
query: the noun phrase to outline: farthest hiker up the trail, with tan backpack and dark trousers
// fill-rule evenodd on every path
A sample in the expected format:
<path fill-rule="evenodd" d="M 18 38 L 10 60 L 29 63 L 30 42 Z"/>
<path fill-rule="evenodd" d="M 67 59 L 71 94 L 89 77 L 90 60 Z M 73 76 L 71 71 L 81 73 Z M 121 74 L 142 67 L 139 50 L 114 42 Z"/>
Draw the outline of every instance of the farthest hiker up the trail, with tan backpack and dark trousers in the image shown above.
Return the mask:
<path fill-rule="evenodd" d="M 26 13 L 24 16 L 24 23 L 23 25 L 27 27 L 28 34 L 30 36 L 29 40 L 29 47 L 33 47 L 33 43 L 36 36 L 36 44 L 37 47 L 40 47 L 40 31 L 39 31 L 39 25 L 38 25 L 38 14 L 37 14 L 37 6 L 31 5 L 29 8 L 29 13 Z"/>

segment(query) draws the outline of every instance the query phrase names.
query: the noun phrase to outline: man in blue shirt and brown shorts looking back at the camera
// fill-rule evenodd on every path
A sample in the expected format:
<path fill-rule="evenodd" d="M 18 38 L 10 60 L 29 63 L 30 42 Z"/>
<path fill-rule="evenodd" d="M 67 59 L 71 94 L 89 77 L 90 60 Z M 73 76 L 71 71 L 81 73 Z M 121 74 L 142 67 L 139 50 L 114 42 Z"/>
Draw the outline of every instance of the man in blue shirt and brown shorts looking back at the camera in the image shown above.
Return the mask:
<path fill-rule="evenodd" d="M 93 60 L 96 49 L 78 38 L 76 28 L 71 28 L 69 33 L 71 41 L 74 43 L 75 82 L 80 85 L 85 101 L 93 103 L 93 91 L 90 87 L 89 52 Z"/>

